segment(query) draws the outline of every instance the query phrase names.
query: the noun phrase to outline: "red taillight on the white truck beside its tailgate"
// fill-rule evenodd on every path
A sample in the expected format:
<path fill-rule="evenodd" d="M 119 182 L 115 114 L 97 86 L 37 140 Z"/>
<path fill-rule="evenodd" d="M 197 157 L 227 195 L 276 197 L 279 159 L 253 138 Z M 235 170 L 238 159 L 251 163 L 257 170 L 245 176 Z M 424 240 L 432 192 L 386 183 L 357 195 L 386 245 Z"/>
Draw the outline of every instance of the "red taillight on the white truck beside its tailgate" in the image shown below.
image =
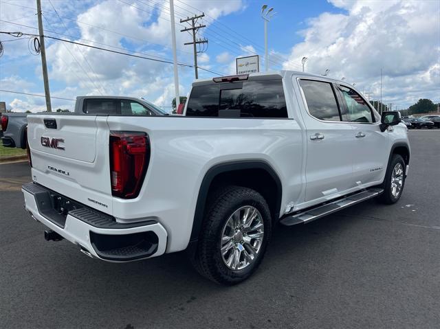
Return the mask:
<path fill-rule="evenodd" d="M 111 194 L 120 198 L 139 195 L 150 159 L 150 142 L 146 133 L 111 131 Z"/>

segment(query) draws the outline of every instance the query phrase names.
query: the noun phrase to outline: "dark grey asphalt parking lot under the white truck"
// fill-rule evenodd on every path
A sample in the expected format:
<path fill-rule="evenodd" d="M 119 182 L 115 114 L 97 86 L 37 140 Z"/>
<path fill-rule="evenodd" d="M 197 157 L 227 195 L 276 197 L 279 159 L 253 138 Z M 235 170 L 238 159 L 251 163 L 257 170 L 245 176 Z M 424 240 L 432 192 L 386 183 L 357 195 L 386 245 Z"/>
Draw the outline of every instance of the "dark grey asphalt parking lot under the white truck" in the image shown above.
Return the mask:
<path fill-rule="evenodd" d="M 239 286 L 184 253 L 92 260 L 23 209 L 27 163 L 0 164 L 0 328 L 439 328 L 440 130 L 410 131 L 404 194 L 280 227 Z"/>

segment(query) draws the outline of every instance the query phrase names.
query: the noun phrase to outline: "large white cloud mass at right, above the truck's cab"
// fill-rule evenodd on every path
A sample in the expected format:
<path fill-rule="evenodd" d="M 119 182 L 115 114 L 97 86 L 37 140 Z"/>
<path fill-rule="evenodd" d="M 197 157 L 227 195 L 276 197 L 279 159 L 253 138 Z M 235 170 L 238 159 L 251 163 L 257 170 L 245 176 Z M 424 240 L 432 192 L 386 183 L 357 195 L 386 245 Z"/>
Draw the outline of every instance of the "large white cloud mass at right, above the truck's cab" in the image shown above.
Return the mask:
<path fill-rule="evenodd" d="M 300 32 L 304 41 L 292 48 L 285 69 L 306 71 L 356 82 L 362 91 L 380 94 L 383 68 L 384 102 L 401 106 L 412 99 L 438 100 L 440 8 L 438 1 L 329 1 L 345 14 L 323 13 Z"/>

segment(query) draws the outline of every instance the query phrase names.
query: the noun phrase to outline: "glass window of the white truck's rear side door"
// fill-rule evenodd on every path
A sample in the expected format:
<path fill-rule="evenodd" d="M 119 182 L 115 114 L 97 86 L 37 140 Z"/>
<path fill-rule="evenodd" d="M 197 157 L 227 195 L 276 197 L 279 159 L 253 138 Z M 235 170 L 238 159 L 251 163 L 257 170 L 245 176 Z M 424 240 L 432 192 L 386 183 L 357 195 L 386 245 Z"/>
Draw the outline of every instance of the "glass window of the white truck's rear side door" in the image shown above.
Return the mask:
<path fill-rule="evenodd" d="M 319 120 L 341 121 L 338 102 L 329 82 L 300 80 L 310 115 Z"/>

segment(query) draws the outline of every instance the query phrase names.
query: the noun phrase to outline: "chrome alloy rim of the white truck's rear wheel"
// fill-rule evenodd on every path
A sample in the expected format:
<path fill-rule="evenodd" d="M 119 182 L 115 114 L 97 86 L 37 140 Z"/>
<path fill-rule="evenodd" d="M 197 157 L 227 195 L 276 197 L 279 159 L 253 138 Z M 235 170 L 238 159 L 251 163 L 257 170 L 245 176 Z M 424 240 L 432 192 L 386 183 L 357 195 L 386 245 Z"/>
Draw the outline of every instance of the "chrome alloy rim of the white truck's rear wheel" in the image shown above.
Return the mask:
<path fill-rule="evenodd" d="M 263 245 L 264 223 L 256 207 L 245 205 L 230 216 L 221 232 L 221 258 L 232 271 L 249 266 Z"/>

